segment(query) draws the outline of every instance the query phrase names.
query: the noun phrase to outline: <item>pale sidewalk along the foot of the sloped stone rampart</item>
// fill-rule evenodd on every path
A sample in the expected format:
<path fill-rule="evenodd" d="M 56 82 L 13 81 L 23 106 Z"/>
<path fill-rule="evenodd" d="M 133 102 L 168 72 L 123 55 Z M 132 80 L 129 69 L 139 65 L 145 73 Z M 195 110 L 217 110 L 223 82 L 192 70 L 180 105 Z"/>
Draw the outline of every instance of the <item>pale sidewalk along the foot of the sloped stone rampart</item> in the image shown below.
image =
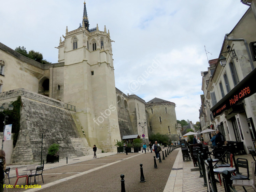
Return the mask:
<path fill-rule="evenodd" d="M 113 154 L 116 154 L 116 152 L 97 153 L 97 158 L 111 156 Z M 93 159 L 93 154 L 88 155 L 88 156 L 82 156 L 82 157 L 76 157 L 76 158 L 68 159 L 68 164 L 67 164 L 67 159 L 60 160 L 57 163 L 47 163 L 46 164 L 46 162 L 44 162 L 44 170 L 52 169 L 52 168 L 56 168 L 56 167 L 61 167 L 61 166 L 65 166 L 65 165 L 71 165 L 71 164 L 74 164 L 74 163 L 79 163 L 79 162 L 83 162 L 83 161 L 91 160 L 91 159 Z M 43 164 L 43 162 L 42 162 L 42 164 Z M 39 166 L 40 164 L 31 164 L 31 165 Z M 19 175 L 26 175 L 26 172 L 24 170 L 26 170 L 27 166 L 29 166 L 29 165 L 6 165 L 6 167 L 11 168 L 10 173 L 9 173 L 9 177 L 10 178 L 16 177 L 16 171 L 15 171 L 16 167 L 18 168 Z"/>

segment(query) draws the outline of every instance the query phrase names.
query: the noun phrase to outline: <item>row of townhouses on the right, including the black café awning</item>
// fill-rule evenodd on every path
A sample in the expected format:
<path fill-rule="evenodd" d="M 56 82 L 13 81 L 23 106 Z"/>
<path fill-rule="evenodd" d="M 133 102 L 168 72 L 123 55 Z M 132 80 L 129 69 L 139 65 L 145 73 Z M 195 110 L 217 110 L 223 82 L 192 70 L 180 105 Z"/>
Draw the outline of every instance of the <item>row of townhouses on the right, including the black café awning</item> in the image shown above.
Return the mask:
<path fill-rule="evenodd" d="M 209 127 L 222 132 L 226 141 L 242 141 L 247 152 L 256 146 L 255 29 L 256 20 L 249 8 L 225 35 L 214 69 L 211 71 L 210 65 L 208 71 L 201 72 L 202 130 Z"/>

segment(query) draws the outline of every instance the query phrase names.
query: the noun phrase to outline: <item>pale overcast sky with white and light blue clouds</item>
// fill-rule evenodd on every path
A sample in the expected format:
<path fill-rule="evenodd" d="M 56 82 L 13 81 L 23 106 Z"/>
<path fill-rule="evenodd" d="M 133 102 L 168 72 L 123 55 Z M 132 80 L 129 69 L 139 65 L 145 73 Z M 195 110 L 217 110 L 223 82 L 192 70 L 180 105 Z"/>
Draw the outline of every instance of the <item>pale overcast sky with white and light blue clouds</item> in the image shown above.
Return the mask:
<path fill-rule="evenodd" d="M 58 62 L 60 36 L 79 27 L 83 0 L 2 1 L 0 42 Z M 87 0 L 90 28 L 110 30 L 115 84 L 146 102 L 176 104 L 177 120 L 199 121 L 201 71 L 249 8 L 240 0 Z M 63 38 L 62 38 L 63 40 Z"/>

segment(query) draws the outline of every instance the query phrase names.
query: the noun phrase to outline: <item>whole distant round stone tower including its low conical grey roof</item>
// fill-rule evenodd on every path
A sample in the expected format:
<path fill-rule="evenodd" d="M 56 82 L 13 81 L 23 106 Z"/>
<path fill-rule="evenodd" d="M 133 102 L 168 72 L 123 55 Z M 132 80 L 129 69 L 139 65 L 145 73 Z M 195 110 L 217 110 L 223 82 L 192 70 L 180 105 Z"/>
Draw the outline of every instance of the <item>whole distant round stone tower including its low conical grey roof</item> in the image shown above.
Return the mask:
<path fill-rule="evenodd" d="M 145 105 L 150 130 L 153 134 L 171 134 L 177 136 L 175 103 L 159 98 L 148 101 Z"/>

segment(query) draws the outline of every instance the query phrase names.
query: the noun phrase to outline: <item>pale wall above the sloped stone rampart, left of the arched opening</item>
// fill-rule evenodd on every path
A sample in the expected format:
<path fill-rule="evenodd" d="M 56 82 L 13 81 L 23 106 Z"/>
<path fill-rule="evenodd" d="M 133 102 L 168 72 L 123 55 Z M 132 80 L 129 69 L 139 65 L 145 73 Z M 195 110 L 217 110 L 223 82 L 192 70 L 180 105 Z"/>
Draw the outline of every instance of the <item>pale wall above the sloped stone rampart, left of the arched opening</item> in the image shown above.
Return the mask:
<path fill-rule="evenodd" d="M 17 59 L 2 49 L 0 49 L 0 60 L 5 62 L 4 76 L 0 75 L 0 82 L 3 85 L 2 92 L 17 88 L 25 88 L 34 92 L 38 92 L 38 79 L 44 74 L 44 70 L 42 68 L 38 68 L 34 65 Z M 40 65 L 40 63 L 38 64 Z"/>

